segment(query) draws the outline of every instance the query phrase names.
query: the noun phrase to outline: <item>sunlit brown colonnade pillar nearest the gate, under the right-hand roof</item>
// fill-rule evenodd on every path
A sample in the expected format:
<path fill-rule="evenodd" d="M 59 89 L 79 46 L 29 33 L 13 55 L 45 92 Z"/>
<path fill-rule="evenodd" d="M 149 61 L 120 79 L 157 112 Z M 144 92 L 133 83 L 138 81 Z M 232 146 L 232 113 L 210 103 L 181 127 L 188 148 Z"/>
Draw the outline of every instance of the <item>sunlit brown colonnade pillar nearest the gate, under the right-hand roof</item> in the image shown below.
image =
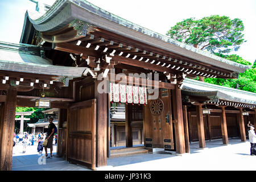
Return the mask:
<path fill-rule="evenodd" d="M 205 148 L 204 119 L 203 119 L 202 105 L 196 105 L 196 115 L 197 115 L 199 147 Z"/>

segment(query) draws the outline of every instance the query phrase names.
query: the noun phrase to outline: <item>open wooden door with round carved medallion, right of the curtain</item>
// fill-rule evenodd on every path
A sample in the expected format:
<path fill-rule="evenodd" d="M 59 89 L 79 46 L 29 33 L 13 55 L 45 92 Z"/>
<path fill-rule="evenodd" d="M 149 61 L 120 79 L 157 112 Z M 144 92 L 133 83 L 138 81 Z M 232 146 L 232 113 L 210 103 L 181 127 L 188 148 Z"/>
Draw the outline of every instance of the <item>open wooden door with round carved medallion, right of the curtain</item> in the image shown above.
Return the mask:
<path fill-rule="evenodd" d="M 160 93 L 157 100 L 148 100 L 144 107 L 145 146 L 174 149 L 169 92 Z"/>

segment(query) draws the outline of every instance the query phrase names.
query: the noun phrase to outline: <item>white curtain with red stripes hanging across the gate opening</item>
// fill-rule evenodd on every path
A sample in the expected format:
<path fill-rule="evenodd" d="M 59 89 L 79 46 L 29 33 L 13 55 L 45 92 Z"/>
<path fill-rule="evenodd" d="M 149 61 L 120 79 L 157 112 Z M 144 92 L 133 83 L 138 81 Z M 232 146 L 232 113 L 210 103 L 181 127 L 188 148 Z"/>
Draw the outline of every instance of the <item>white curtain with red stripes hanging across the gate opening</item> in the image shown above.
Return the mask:
<path fill-rule="evenodd" d="M 110 83 L 110 102 L 147 104 L 147 88 Z"/>

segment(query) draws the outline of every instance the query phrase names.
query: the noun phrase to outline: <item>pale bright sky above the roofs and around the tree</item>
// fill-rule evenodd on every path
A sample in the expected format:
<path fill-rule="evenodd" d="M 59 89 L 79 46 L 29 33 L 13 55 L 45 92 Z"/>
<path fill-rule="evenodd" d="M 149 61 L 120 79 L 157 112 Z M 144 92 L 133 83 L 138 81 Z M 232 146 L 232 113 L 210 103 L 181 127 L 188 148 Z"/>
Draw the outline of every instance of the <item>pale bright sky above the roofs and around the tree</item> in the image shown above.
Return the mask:
<path fill-rule="evenodd" d="M 235 53 L 253 63 L 256 59 L 255 0 L 88 0 L 112 14 L 149 30 L 166 35 L 177 22 L 187 18 L 201 19 L 210 15 L 225 15 L 242 20 L 245 30 L 240 49 Z M 0 0 L 0 41 L 19 43 L 27 9 L 35 9 L 29 0 Z"/>

